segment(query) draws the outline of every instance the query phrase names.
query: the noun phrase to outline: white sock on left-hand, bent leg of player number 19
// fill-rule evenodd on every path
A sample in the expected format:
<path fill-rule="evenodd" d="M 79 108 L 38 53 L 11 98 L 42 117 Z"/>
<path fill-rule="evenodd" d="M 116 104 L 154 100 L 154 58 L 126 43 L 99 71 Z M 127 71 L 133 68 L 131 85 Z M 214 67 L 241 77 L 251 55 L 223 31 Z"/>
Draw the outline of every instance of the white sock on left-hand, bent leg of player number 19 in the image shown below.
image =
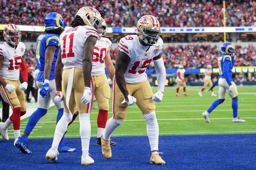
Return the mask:
<path fill-rule="evenodd" d="M 113 118 L 110 118 L 108 122 L 106 123 L 105 131 L 103 133 L 103 138 L 106 141 L 110 140 L 110 135 L 113 133 L 113 131 L 119 126 L 123 120 L 115 120 Z"/>

